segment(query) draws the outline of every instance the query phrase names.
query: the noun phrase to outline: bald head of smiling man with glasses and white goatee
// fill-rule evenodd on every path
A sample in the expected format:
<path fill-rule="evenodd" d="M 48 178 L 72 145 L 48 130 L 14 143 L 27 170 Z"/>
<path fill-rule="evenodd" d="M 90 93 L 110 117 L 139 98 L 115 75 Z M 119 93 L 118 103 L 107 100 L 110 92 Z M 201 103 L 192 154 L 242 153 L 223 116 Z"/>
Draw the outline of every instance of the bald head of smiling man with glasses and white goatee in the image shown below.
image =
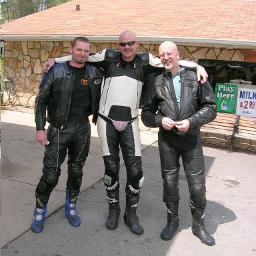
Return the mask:
<path fill-rule="evenodd" d="M 179 70 L 179 51 L 177 45 L 171 41 L 165 41 L 159 46 L 159 57 L 167 72 L 173 75 Z"/>

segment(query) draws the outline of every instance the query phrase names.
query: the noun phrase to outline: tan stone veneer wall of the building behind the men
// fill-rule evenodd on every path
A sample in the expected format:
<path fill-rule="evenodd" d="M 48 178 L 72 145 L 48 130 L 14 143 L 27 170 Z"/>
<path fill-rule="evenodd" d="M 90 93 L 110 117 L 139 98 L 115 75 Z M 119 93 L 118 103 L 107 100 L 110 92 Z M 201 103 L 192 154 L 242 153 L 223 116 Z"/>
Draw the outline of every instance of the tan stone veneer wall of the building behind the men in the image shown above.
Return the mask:
<path fill-rule="evenodd" d="M 41 65 L 51 57 L 69 55 L 70 42 L 6 41 L 5 83 L 2 105 L 33 107 L 42 77 Z M 91 53 L 105 48 L 116 48 L 116 43 L 91 43 Z M 141 44 L 137 52 L 158 54 L 159 44 Z M 255 49 L 225 49 L 215 47 L 179 46 L 182 59 L 197 62 L 198 59 L 256 62 Z"/>

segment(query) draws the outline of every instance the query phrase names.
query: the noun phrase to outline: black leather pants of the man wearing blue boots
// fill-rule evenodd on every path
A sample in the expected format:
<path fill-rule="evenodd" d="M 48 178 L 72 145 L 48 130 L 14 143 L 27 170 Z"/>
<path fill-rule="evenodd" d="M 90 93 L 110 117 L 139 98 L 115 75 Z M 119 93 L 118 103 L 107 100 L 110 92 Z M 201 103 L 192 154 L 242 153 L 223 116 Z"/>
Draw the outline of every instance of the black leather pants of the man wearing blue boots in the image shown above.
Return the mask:
<path fill-rule="evenodd" d="M 67 189 L 70 200 L 75 203 L 80 192 L 83 165 L 89 153 L 90 138 L 91 126 L 87 117 L 70 118 L 64 129 L 49 125 L 47 129 L 49 144 L 45 145 L 43 175 L 35 189 L 37 207 L 41 208 L 47 204 L 51 191 L 56 187 L 67 150 Z"/>

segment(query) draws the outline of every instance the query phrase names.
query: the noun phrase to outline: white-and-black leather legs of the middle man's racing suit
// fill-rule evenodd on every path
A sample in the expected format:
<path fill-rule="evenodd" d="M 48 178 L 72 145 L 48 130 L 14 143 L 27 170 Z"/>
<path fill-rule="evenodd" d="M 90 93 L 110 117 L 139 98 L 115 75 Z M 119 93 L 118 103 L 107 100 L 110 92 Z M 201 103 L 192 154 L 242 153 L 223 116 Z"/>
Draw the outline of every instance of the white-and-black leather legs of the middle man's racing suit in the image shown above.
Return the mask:
<path fill-rule="evenodd" d="M 119 189 L 120 147 L 127 170 L 126 193 L 139 195 L 139 181 L 143 172 L 138 122 L 138 119 L 135 119 L 123 131 L 117 131 L 111 123 L 98 118 L 98 133 L 105 164 L 104 184 L 107 191 Z"/>

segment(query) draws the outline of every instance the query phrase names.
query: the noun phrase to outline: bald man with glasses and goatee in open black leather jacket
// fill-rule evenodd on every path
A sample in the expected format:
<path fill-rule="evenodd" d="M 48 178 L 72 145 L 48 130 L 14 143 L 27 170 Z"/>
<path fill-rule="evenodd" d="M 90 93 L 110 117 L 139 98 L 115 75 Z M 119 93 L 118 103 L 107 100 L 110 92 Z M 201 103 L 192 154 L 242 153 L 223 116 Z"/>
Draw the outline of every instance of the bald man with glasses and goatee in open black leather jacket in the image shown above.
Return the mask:
<path fill-rule="evenodd" d="M 147 127 L 159 127 L 159 153 L 163 178 L 163 202 L 167 207 L 167 226 L 163 240 L 171 239 L 179 225 L 179 157 L 183 161 L 190 193 L 193 234 L 206 245 L 215 240 L 205 230 L 205 165 L 201 125 L 216 117 L 216 101 L 211 85 L 197 82 L 193 71 L 179 66 L 175 43 L 163 42 L 159 56 L 165 72 L 156 77 L 145 96 L 142 121 Z M 158 111 L 158 112 L 157 112 Z"/>

